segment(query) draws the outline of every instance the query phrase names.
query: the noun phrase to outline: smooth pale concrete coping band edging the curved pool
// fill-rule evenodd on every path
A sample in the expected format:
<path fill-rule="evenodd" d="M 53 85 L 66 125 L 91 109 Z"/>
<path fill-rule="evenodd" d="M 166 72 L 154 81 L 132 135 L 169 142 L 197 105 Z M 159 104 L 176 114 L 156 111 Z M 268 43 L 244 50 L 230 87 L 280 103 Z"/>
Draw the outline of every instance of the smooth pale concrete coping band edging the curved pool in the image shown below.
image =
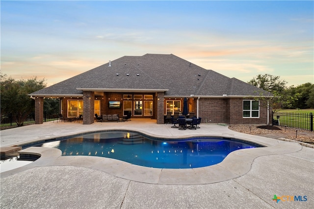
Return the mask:
<path fill-rule="evenodd" d="M 109 129 L 116 131 L 121 129 Z M 104 131 L 109 131 L 104 130 Z M 137 131 L 153 137 L 165 137 L 150 133 L 148 131 L 139 131 L 136 129 L 128 129 L 128 131 Z M 90 131 L 95 132 L 95 131 Z M 68 135 L 78 135 L 82 132 Z M 84 131 L 86 133 L 86 131 Z M 201 135 L 197 135 L 199 137 Z M 163 168 L 149 168 L 139 165 L 134 165 L 117 159 L 106 157 L 92 157 L 92 156 L 61 156 L 61 151 L 55 148 L 43 147 L 29 147 L 19 153 L 39 155 L 40 158 L 36 161 L 29 163 L 23 167 L 19 167 L 10 171 L 2 172 L 1 178 L 19 173 L 34 167 L 41 166 L 78 166 L 94 170 L 103 171 L 115 177 L 127 179 L 141 183 L 152 184 L 181 184 L 181 185 L 195 185 L 195 184 L 208 184 L 218 183 L 240 177 L 250 171 L 252 163 L 255 158 L 266 155 L 279 155 L 288 154 L 300 151 L 302 146 L 296 142 L 282 141 L 266 137 L 256 137 L 254 135 L 241 135 L 235 134 L 213 134 L 206 135 L 212 137 L 231 137 L 244 141 L 251 141 L 261 144 L 265 147 L 254 149 L 241 149 L 230 153 L 222 162 L 201 167 L 201 168 L 186 168 L 186 169 L 163 169 Z M 32 143 L 41 140 L 49 140 L 58 137 L 47 137 L 45 139 L 36 139 L 27 141 Z M 195 137 L 195 135 L 185 135 L 185 137 Z M 26 143 L 21 143 L 26 144 Z M 21 145 L 20 144 L 20 145 Z"/>

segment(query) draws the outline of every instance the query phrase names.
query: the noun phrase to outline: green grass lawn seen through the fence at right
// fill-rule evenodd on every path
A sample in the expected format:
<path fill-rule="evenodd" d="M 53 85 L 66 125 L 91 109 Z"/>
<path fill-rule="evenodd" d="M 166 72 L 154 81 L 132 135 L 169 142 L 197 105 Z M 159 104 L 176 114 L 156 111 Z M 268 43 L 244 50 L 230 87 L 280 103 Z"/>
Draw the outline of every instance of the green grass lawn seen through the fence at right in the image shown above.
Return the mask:
<path fill-rule="evenodd" d="M 280 116 L 280 126 L 311 130 L 310 113 L 314 115 L 314 109 L 282 109 L 276 112 L 273 117 L 277 120 L 277 115 Z"/>

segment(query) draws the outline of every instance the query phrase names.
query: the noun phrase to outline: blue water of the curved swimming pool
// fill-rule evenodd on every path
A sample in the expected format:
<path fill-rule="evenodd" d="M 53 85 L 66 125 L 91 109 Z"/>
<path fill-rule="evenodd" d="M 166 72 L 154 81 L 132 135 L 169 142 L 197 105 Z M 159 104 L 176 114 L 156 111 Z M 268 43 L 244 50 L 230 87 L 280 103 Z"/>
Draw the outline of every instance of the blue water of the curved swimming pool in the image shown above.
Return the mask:
<path fill-rule="evenodd" d="M 235 150 L 261 147 L 227 138 L 161 140 L 148 137 L 130 131 L 106 131 L 33 146 L 57 148 L 62 156 L 109 157 L 154 168 L 204 167 L 221 162 Z"/>

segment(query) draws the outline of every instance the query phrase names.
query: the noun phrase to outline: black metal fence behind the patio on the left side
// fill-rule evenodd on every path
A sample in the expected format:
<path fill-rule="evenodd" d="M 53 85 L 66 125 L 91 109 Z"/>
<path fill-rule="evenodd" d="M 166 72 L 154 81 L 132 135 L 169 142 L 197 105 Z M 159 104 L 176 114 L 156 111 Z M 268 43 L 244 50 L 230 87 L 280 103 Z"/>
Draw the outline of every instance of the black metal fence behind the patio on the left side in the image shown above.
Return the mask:
<path fill-rule="evenodd" d="M 44 120 L 43 122 L 53 121 L 59 119 L 59 110 L 55 111 L 44 111 Z M 17 126 L 17 123 L 15 121 L 17 115 L 14 115 L 12 113 L 10 114 L 1 114 L 1 123 L 0 127 L 15 127 Z M 26 116 L 25 121 L 23 122 L 24 125 L 26 124 L 32 124 L 35 123 L 35 113 L 32 112 Z"/>

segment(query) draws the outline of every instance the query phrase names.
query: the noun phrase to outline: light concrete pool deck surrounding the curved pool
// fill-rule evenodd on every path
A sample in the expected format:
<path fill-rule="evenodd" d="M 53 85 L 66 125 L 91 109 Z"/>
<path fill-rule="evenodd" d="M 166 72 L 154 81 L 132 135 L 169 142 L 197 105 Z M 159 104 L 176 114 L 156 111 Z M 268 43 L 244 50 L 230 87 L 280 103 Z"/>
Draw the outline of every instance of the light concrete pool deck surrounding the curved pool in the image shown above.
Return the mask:
<path fill-rule="evenodd" d="M 313 148 L 231 131 L 222 125 L 200 127 L 181 131 L 171 128 L 171 124 L 157 125 L 156 120 L 132 119 L 92 125 L 48 122 L 2 130 L 1 148 L 113 129 L 165 138 L 235 137 L 267 147 L 238 150 L 219 164 L 194 169 L 147 168 L 115 159 L 61 156 L 56 149 L 29 148 L 24 152 L 41 157 L 0 174 L 0 208 L 314 208 Z M 283 197 L 276 203 L 274 195 L 302 196 L 303 201 Z"/>

